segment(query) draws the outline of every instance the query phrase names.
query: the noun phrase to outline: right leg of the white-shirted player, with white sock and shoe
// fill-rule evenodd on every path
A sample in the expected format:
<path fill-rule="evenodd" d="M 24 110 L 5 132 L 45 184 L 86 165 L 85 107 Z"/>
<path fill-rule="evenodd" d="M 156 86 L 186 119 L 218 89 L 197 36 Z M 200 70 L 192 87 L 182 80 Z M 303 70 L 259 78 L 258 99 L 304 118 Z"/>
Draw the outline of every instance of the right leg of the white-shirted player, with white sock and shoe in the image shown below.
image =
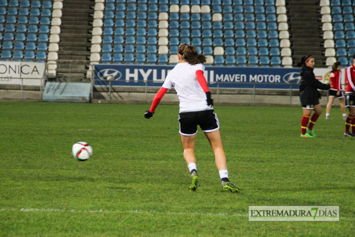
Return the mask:
<path fill-rule="evenodd" d="M 208 141 L 210 142 L 214 152 L 215 162 L 219 172 L 219 176 L 221 178 L 222 188 L 231 192 L 240 192 L 241 189 L 236 187 L 233 183 L 229 181 L 226 154 L 223 150 L 222 139 L 219 133 L 219 129 L 213 132 L 205 132 L 205 135 Z"/>

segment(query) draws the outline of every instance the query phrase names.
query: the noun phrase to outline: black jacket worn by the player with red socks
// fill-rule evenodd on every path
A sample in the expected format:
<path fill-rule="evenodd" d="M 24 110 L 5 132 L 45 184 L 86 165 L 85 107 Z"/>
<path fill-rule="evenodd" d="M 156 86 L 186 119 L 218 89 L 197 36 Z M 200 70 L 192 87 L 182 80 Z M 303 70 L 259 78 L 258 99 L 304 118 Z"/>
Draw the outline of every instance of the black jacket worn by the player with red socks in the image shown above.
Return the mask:
<path fill-rule="evenodd" d="M 317 80 L 313 73 L 313 68 L 303 66 L 300 85 L 301 105 L 318 105 L 320 92 L 317 89 L 329 90 L 330 85 L 323 84 Z"/>

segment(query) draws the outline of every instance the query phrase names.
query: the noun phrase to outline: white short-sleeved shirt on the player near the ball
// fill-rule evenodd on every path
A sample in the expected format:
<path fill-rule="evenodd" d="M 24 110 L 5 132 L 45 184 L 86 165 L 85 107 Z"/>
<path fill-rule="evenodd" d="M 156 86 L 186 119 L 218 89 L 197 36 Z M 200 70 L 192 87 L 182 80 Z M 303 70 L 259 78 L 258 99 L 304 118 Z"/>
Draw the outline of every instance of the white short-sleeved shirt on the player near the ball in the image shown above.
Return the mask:
<path fill-rule="evenodd" d="M 165 78 L 163 88 L 174 86 L 180 100 L 179 112 L 194 112 L 213 109 L 207 105 L 206 93 L 196 79 L 196 71 L 205 70 L 203 64 L 178 63 Z"/>

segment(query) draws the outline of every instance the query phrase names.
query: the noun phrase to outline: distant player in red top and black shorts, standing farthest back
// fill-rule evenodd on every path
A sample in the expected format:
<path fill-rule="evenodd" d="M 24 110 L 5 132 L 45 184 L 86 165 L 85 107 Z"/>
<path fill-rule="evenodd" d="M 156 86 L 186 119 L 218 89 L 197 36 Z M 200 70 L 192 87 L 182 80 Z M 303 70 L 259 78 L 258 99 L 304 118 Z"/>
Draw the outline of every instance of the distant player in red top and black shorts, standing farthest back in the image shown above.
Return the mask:
<path fill-rule="evenodd" d="M 332 85 L 329 89 L 328 104 L 325 114 L 325 119 L 329 118 L 329 112 L 332 108 L 334 98 L 337 97 L 340 101 L 340 109 L 343 113 L 343 119 L 346 119 L 345 112 L 345 100 L 344 100 L 344 91 L 341 87 L 341 62 L 335 62 L 333 64 L 332 73 L 330 73 L 330 84 Z"/>

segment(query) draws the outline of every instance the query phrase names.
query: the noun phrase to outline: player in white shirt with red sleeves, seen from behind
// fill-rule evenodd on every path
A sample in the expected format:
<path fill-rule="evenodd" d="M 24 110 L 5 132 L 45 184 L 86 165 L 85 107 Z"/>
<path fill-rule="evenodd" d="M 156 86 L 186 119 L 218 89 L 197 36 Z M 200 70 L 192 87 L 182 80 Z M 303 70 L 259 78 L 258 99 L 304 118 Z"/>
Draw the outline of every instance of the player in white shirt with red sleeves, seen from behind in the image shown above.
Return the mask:
<path fill-rule="evenodd" d="M 197 188 L 195 138 L 197 125 L 199 125 L 212 146 L 222 188 L 231 192 L 240 192 L 240 188 L 234 186 L 228 179 L 219 122 L 217 115 L 213 113 L 213 98 L 203 75 L 206 56 L 199 55 L 195 47 L 184 43 L 177 48 L 177 58 L 179 63 L 166 76 L 163 86 L 154 97 L 151 108 L 145 111 L 144 117 L 149 119 L 153 116 L 165 92 L 174 86 L 180 101 L 179 133 L 184 147 L 184 158 L 192 178 L 189 189 L 195 191 Z"/>

